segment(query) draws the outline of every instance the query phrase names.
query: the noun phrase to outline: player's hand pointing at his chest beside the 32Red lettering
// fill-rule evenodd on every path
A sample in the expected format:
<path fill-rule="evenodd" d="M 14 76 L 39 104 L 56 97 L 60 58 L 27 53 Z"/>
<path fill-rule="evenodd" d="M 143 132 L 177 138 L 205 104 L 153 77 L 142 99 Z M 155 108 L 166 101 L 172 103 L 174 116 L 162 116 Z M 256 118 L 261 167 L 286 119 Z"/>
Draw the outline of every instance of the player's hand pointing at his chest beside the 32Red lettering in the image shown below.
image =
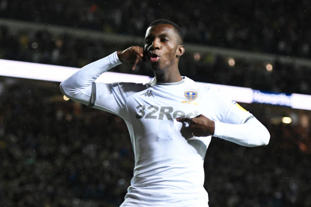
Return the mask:
<path fill-rule="evenodd" d="M 176 119 L 179 122 L 188 122 L 189 128 L 195 136 L 209 136 L 214 135 L 215 122 L 200 114 L 195 118 L 180 117 Z"/>

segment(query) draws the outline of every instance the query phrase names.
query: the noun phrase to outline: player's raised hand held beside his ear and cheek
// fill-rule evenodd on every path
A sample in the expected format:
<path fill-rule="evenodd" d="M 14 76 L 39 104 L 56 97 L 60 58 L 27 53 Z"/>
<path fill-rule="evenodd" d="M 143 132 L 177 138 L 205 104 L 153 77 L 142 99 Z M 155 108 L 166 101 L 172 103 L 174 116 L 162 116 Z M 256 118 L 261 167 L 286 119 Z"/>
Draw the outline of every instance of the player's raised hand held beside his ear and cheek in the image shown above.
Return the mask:
<path fill-rule="evenodd" d="M 144 49 L 140 46 L 132 46 L 123 51 L 117 51 L 117 55 L 121 62 L 129 64 L 132 68 L 132 71 L 135 70 L 135 67 L 144 61 Z"/>

